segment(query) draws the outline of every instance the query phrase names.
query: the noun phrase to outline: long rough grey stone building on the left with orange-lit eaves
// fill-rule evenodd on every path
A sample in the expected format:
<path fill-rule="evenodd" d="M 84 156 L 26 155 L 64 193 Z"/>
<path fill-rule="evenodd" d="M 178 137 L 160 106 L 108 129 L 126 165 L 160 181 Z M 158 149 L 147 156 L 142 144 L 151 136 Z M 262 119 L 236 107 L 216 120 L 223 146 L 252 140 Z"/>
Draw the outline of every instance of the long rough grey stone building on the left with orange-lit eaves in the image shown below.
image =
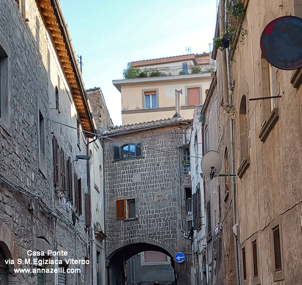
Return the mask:
<path fill-rule="evenodd" d="M 95 132 L 69 31 L 57 1 L 0 6 L 1 284 L 89 284 L 90 265 L 65 260 L 91 259 L 88 163 L 76 156 Z"/>

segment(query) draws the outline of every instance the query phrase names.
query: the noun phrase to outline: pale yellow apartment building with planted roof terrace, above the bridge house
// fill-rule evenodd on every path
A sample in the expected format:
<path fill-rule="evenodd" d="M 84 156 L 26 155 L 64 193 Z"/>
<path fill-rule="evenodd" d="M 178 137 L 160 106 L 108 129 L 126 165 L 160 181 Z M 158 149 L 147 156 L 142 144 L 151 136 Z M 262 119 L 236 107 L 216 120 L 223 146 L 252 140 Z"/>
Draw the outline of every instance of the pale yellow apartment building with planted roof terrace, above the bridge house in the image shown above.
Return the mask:
<path fill-rule="evenodd" d="M 180 115 L 192 119 L 194 107 L 203 104 L 216 70 L 216 62 L 205 52 L 130 64 L 124 79 L 112 81 L 121 93 L 123 125 L 172 118 L 175 90 L 182 90 Z"/>

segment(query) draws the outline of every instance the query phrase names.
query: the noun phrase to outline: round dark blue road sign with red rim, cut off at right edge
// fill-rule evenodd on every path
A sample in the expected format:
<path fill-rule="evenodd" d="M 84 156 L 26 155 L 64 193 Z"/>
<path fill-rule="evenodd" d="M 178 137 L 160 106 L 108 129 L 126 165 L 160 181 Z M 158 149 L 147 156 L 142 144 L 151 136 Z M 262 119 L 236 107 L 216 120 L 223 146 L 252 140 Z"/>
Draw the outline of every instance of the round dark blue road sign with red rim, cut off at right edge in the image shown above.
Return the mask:
<path fill-rule="evenodd" d="M 263 30 L 260 48 L 273 66 L 292 70 L 302 66 L 302 19 L 283 16 L 271 21 Z"/>

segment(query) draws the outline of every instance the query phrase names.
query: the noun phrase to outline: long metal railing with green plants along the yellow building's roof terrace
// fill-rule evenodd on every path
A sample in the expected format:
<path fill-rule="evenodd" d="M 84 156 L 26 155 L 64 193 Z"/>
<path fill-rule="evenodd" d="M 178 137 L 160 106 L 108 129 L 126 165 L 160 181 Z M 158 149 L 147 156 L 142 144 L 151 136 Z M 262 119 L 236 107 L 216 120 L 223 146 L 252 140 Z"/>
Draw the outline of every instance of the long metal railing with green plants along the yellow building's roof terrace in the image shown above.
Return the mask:
<path fill-rule="evenodd" d="M 174 67 L 157 67 L 139 69 L 137 67 L 130 67 L 124 70 L 124 79 L 144 78 L 144 77 L 163 77 L 163 76 L 175 76 L 175 75 L 187 75 L 198 73 L 211 73 L 215 72 L 216 64 L 211 65 L 189 65 L 188 68 L 181 66 Z"/>

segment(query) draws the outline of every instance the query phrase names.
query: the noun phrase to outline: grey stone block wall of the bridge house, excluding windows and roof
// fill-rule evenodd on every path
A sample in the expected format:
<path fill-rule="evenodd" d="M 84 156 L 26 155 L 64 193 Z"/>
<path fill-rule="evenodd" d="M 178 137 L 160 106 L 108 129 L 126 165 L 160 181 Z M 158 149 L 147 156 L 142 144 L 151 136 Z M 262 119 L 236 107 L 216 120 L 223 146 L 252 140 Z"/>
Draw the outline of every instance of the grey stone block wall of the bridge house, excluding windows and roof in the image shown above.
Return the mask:
<path fill-rule="evenodd" d="M 184 126 L 179 124 L 104 139 L 108 261 L 139 243 L 162 248 L 170 257 L 191 252 L 191 241 L 184 238 L 180 220 L 185 209 L 180 208 L 178 151 L 184 135 Z M 142 143 L 142 157 L 114 161 L 114 146 L 138 143 Z M 135 199 L 135 218 L 116 219 L 116 200 L 122 199 L 126 207 L 127 200 Z M 182 189 L 183 207 L 184 201 Z M 185 264 L 174 266 L 178 284 L 191 280 L 191 254 L 186 258 Z"/>

